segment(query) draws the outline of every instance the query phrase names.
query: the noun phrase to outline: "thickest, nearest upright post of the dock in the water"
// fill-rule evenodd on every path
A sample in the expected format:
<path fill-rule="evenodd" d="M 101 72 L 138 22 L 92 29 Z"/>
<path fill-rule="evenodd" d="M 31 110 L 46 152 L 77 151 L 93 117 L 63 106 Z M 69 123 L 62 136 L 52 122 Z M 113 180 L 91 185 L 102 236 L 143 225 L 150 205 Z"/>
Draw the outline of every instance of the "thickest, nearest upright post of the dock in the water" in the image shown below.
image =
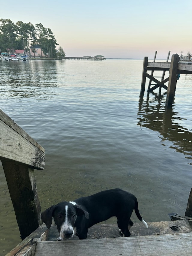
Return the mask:
<path fill-rule="evenodd" d="M 170 77 L 167 88 L 167 98 L 166 98 L 166 108 L 170 108 L 173 104 L 173 99 L 175 96 L 176 84 L 177 84 L 177 66 L 179 62 L 179 55 L 173 54 L 171 57 L 170 65 Z"/>

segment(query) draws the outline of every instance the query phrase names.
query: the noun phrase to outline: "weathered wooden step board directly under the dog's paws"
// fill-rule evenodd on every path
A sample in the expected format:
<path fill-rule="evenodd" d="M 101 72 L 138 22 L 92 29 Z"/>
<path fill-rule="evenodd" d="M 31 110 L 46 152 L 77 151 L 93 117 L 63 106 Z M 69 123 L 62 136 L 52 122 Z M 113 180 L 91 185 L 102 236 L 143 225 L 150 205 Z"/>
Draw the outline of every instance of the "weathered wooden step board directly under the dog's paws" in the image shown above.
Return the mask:
<path fill-rule="evenodd" d="M 192 232 L 192 222 L 188 220 L 182 221 L 158 221 L 148 222 L 146 228 L 143 224 L 134 223 L 131 228 L 132 236 L 148 236 L 148 235 L 163 235 L 163 234 L 177 234 L 177 233 L 190 233 Z M 49 232 L 49 241 L 56 241 L 58 238 L 58 231 L 56 226 L 52 226 Z M 96 224 L 88 229 L 87 239 L 95 238 L 113 238 L 121 237 L 117 224 Z M 73 240 L 78 240 L 77 236 Z"/>

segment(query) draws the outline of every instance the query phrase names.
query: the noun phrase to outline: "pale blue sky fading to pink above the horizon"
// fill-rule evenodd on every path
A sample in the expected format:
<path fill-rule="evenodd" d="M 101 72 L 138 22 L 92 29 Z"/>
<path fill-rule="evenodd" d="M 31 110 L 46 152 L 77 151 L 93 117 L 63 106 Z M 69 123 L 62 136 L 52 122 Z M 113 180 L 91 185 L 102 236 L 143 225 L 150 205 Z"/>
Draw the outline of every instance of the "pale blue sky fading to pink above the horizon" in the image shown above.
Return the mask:
<path fill-rule="evenodd" d="M 66 56 L 192 53 L 192 0 L 10 0 L 0 8 L 0 18 L 50 28 Z"/>

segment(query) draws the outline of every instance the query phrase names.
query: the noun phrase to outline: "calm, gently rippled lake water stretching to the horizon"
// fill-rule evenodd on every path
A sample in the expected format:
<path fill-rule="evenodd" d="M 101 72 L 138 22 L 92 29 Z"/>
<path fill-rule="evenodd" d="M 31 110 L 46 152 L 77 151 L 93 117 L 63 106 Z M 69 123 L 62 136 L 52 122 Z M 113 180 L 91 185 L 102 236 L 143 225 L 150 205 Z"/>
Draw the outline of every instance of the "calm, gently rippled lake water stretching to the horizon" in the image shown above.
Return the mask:
<path fill-rule="evenodd" d="M 45 169 L 35 170 L 42 210 L 119 187 L 137 196 L 148 222 L 184 214 L 192 75 L 181 75 L 165 113 L 164 89 L 139 100 L 142 68 L 143 60 L 0 62 L 0 108 L 46 151 Z M 0 197 L 4 255 L 20 236 L 1 165 Z"/>

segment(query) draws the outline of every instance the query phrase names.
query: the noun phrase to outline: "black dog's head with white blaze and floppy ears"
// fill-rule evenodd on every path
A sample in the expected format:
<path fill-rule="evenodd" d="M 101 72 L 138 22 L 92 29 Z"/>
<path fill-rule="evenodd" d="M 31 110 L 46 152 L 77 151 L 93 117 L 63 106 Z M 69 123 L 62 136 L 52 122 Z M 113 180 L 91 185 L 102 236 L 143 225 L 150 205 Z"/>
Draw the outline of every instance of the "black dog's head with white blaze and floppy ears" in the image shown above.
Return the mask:
<path fill-rule="evenodd" d="M 54 218 L 57 229 L 60 232 L 61 239 L 68 239 L 74 235 L 74 224 L 76 218 L 80 215 L 85 215 L 89 218 L 89 214 L 82 206 L 70 202 L 61 202 L 52 205 L 41 213 L 41 219 L 45 222 L 47 228 L 51 227 L 52 217 Z"/>

